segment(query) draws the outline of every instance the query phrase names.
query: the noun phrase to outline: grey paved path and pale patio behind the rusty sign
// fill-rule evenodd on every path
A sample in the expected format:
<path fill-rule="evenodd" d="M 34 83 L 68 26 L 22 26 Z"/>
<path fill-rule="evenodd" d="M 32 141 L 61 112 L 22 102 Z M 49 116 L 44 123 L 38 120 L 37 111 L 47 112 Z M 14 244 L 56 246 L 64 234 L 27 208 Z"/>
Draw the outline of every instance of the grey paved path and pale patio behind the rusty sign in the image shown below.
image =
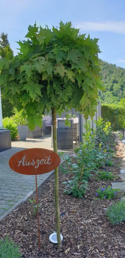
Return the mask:
<path fill-rule="evenodd" d="M 26 200 L 35 191 L 35 176 L 21 175 L 9 167 L 10 157 L 18 151 L 26 148 L 51 148 L 51 135 L 43 135 L 41 138 L 28 139 L 26 141 L 15 140 L 12 148 L 0 153 L 0 220 L 14 210 L 21 202 Z M 71 153 L 66 151 L 67 154 Z M 37 175 L 37 185 L 41 185 L 53 171 Z"/>

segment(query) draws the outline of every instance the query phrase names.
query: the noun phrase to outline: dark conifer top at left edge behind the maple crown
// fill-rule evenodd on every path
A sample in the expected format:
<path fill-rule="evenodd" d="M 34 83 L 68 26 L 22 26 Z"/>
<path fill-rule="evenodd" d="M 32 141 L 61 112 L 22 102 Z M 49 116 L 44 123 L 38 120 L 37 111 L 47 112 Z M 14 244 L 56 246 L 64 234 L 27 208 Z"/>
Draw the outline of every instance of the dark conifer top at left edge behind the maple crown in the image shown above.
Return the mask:
<path fill-rule="evenodd" d="M 10 47 L 8 35 L 2 32 L 0 34 L 0 56 L 6 57 L 7 59 L 13 58 L 13 51 Z"/>

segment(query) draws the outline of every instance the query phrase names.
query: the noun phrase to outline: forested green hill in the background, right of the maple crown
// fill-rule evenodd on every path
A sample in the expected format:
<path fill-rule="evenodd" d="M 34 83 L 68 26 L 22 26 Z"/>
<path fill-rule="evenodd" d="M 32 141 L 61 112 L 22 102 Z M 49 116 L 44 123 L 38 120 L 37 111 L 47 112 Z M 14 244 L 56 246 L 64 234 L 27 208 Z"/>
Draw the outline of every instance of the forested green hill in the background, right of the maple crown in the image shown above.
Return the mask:
<path fill-rule="evenodd" d="M 105 91 L 99 91 L 99 100 L 102 103 L 118 104 L 120 99 L 125 98 L 125 69 L 102 61 L 101 77 Z"/>

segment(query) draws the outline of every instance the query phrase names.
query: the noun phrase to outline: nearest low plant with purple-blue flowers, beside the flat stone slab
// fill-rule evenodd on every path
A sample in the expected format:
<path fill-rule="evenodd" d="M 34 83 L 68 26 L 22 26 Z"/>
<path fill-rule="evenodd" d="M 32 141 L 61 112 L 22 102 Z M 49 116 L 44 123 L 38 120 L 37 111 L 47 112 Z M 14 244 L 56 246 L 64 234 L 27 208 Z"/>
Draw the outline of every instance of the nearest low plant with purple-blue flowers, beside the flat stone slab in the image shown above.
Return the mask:
<path fill-rule="evenodd" d="M 96 196 L 100 199 L 114 199 L 117 197 L 119 189 L 111 188 L 110 186 L 106 186 L 105 188 L 98 188 L 96 192 Z"/>

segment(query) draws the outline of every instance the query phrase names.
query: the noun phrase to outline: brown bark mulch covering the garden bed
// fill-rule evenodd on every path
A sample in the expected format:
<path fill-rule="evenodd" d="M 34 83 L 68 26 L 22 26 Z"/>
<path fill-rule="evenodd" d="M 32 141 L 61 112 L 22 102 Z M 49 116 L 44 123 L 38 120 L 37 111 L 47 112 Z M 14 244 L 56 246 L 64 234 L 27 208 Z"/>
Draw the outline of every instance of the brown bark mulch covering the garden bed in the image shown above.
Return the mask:
<path fill-rule="evenodd" d="M 116 156 L 114 167 L 107 169 L 118 174 L 120 161 L 120 157 Z M 113 201 L 100 200 L 95 195 L 98 187 L 111 185 L 112 181 L 98 181 L 94 176 L 89 182 L 85 198 L 76 199 L 63 194 L 62 182 L 67 177 L 68 175 L 59 173 L 60 224 L 64 238 L 62 250 L 49 242 L 49 235 L 56 231 L 54 175 L 38 189 L 41 253 L 38 248 L 37 214 L 33 216 L 33 208 L 28 200 L 3 219 L 0 237 L 8 235 L 13 239 L 25 258 L 125 257 L 125 224 L 112 226 L 107 219 L 106 210 Z M 34 197 L 35 193 L 31 198 Z M 115 201 L 117 200 L 120 197 Z"/>

